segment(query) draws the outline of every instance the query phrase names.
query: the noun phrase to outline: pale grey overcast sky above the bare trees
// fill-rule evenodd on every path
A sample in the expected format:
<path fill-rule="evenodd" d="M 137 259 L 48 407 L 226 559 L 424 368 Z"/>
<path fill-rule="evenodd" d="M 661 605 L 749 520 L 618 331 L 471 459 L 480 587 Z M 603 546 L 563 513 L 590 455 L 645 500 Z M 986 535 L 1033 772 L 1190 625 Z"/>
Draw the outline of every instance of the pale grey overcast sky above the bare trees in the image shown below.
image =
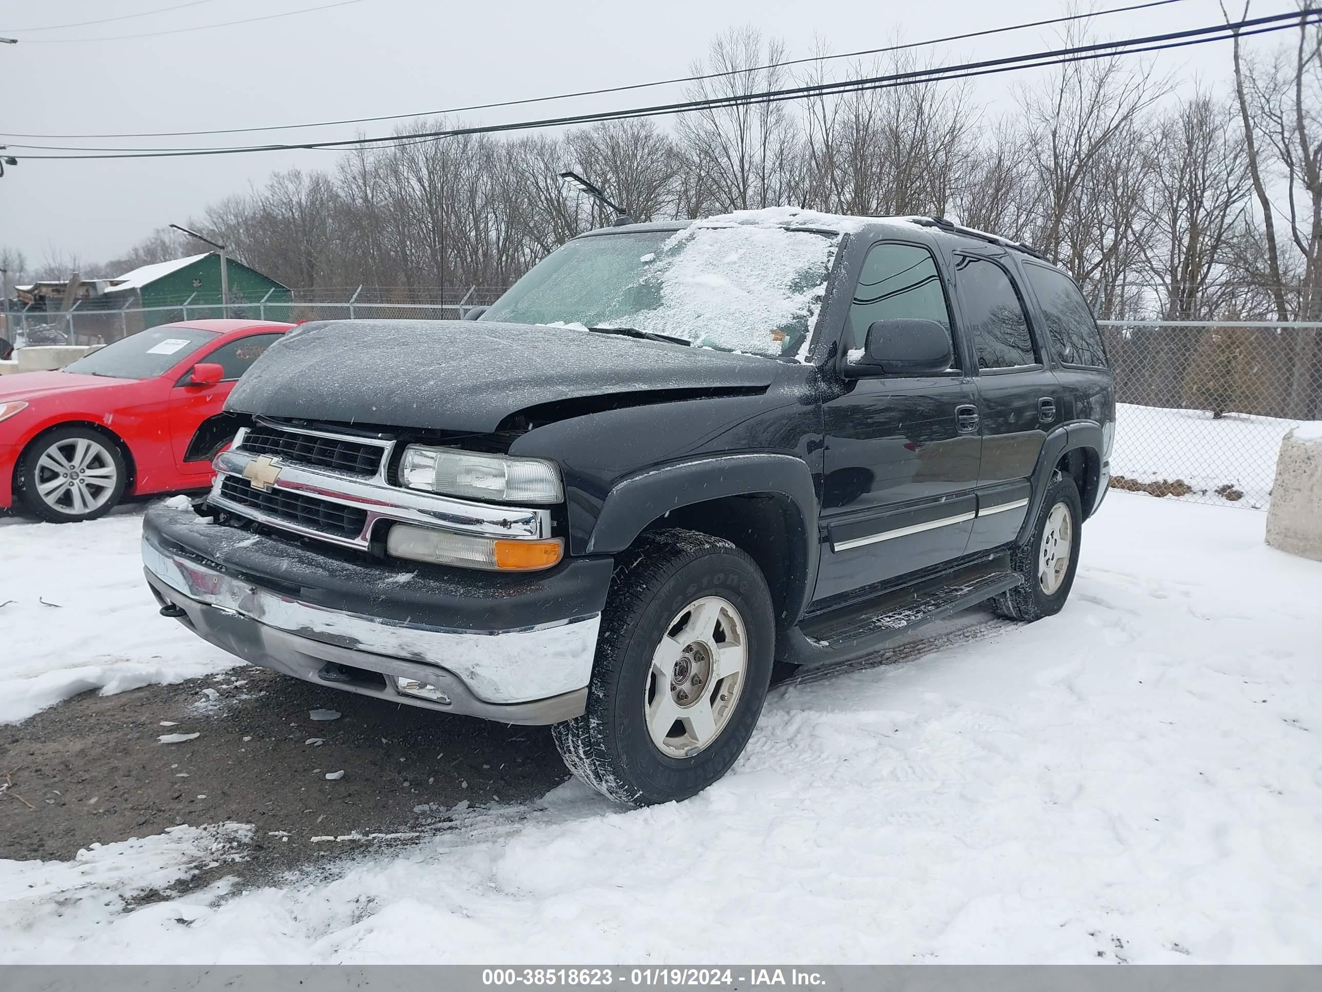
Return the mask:
<path fill-rule="evenodd" d="M 209 0 L 184 9 L 110 24 L 32 32 L 173 7 L 186 0 L 0 0 L 0 144 L 143 147 L 159 139 L 16 138 L 15 132 L 83 135 L 288 124 L 334 118 L 430 111 L 683 75 L 711 37 L 755 25 L 785 40 L 791 57 L 920 41 L 1069 12 L 1067 0 L 493 0 L 423 3 L 360 0 L 334 9 L 157 37 L 112 36 L 259 17 L 330 0 Z M 1096 8 L 1138 0 L 1097 0 Z M 1255 0 L 1252 16 L 1292 9 L 1290 0 Z M 1134 37 L 1210 25 L 1214 0 L 1110 15 L 1093 21 L 1100 37 Z M 1288 36 L 1251 40 L 1268 49 Z M 69 41 L 98 38 L 95 41 Z M 929 49 L 941 61 L 994 58 L 1058 46 L 1039 28 Z M 48 44 L 59 42 L 59 44 Z M 1229 45 L 1166 52 L 1158 67 L 1182 87 L 1195 81 L 1224 91 Z M 1011 86 L 1036 73 L 977 82 L 990 114 L 1011 108 Z M 535 107 L 485 111 L 468 120 L 498 123 L 543 111 L 578 112 L 678 98 L 680 87 L 641 90 Z M 658 99 L 661 98 L 661 99 Z M 368 124 L 368 134 L 391 124 Z M 286 132 L 352 138 L 356 127 Z M 255 138 L 263 138 L 256 135 Z M 167 139 L 242 144 L 246 136 Z M 30 152 L 40 153 L 40 152 Z M 276 169 L 319 168 L 333 152 L 272 152 L 196 159 L 20 161 L 0 179 L 0 247 L 20 249 L 29 266 L 54 255 L 99 262 L 152 229 L 200 216 L 208 202 L 260 184 Z"/>

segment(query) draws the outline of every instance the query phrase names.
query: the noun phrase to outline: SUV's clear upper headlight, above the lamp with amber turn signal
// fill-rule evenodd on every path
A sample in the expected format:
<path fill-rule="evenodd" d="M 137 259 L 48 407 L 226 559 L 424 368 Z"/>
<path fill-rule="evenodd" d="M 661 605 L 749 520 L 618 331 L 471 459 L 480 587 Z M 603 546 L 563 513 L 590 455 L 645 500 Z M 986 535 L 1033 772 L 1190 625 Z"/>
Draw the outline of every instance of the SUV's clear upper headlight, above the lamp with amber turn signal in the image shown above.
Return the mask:
<path fill-rule="evenodd" d="M 399 463 L 399 475 L 410 489 L 475 500 L 559 503 L 563 497 L 559 471 L 553 462 L 539 458 L 410 444 Z"/>

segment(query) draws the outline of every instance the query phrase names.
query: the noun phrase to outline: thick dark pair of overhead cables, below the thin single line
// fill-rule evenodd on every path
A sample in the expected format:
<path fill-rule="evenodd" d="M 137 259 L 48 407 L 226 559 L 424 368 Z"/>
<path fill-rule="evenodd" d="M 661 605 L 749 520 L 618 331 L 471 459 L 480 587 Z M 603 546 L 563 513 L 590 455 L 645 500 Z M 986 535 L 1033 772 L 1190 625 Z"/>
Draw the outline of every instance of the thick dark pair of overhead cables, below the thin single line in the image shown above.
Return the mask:
<path fill-rule="evenodd" d="M 949 79 L 968 79 L 995 73 L 1019 71 L 1022 69 L 1039 69 L 1069 62 L 1081 62 L 1114 56 L 1141 54 L 1145 52 L 1163 52 L 1190 45 L 1203 45 L 1212 41 L 1228 41 L 1236 34 L 1248 37 L 1253 34 L 1266 34 L 1285 30 L 1296 24 L 1319 24 L 1322 8 L 1303 8 L 1284 15 L 1270 15 L 1266 17 L 1253 17 L 1231 24 L 1216 24 L 1206 28 L 1194 28 L 1166 34 L 1151 34 L 1142 38 L 1126 38 L 1121 41 L 1097 42 L 1092 45 L 1079 45 L 1075 48 L 1056 49 L 1050 52 L 1035 52 L 1006 58 L 986 60 L 982 62 L 966 62 L 956 66 L 921 69 L 907 73 L 892 73 L 888 75 L 875 75 L 863 79 L 846 79 L 832 83 L 813 83 L 795 86 L 783 90 L 765 90 L 761 93 L 736 94 L 731 97 L 718 97 L 701 101 L 685 101 L 680 103 L 666 103 L 650 107 L 633 107 L 619 111 L 602 111 L 598 114 L 576 114 L 559 118 L 545 118 L 541 120 L 522 120 L 506 124 L 485 124 L 473 127 L 455 127 L 436 131 L 423 131 L 416 134 L 394 134 L 375 138 L 354 138 L 340 142 L 309 142 L 305 144 L 267 144 L 267 145 L 238 145 L 222 148 L 165 148 L 165 149 L 83 149 L 63 148 L 63 151 L 93 152 L 79 155 L 24 155 L 22 159 L 61 160 L 61 159 L 160 159 L 160 157 L 189 157 L 201 155 L 239 155 L 251 152 L 271 151 L 299 151 L 309 148 L 345 148 L 370 147 L 379 144 L 415 144 L 420 142 L 436 140 L 440 138 L 456 138 L 460 135 L 497 134 L 505 131 L 527 131 L 546 127 L 564 127 L 571 124 L 598 123 L 603 120 L 627 120 L 633 118 L 668 116 L 674 114 L 690 114 L 702 110 L 720 110 L 738 107 L 750 103 L 779 103 L 783 101 L 805 99 L 810 97 L 861 93 L 865 90 L 891 89 L 899 86 L 915 86 L 920 83 L 943 82 Z M 11 148 L 17 145 L 11 145 Z M 33 145 L 25 145 L 33 147 Z"/>

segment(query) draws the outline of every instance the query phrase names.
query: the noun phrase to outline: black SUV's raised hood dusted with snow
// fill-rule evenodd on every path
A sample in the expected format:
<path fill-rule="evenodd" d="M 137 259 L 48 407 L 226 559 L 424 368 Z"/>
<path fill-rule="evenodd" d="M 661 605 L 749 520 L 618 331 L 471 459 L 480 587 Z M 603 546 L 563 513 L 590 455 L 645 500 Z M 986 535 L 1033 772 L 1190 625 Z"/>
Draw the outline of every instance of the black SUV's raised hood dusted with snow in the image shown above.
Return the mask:
<path fill-rule="evenodd" d="M 473 320 L 303 324 L 243 376 L 227 410 L 341 423 L 489 433 L 541 403 L 620 393 L 765 389 L 748 354 Z"/>

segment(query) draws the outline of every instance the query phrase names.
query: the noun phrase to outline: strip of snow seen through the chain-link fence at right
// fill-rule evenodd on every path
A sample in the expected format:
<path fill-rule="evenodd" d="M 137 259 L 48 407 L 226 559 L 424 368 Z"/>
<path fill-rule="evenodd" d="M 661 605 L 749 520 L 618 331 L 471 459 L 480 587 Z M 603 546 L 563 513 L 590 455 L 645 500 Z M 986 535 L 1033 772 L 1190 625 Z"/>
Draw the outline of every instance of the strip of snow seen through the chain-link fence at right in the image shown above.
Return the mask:
<path fill-rule="evenodd" d="M 1116 403 L 1116 446 L 1110 471 L 1141 483 L 1182 479 L 1194 489 L 1190 501 L 1265 507 L 1276 477 L 1276 456 L 1300 421 L 1228 413 L 1214 419 L 1206 410 L 1166 410 Z M 1322 427 L 1306 422 L 1303 429 Z M 1239 500 L 1216 493 L 1233 487 Z M 1243 500 L 1243 501 L 1240 501 Z"/>

